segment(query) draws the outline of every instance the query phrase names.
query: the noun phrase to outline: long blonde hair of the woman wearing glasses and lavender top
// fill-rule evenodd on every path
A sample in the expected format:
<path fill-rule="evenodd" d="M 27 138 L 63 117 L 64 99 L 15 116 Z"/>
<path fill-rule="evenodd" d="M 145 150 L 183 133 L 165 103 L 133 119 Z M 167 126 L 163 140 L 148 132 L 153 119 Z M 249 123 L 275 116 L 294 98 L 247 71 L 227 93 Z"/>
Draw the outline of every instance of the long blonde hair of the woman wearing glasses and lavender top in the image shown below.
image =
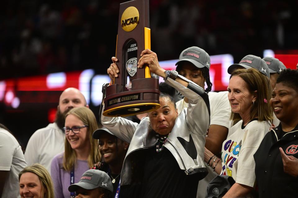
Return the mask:
<path fill-rule="evenodd" d="M 76 107 L 71 109 L 65 116 L 74 115 L 79 118 L 87 127 L 87 133 L 89 134 L 89 142 L 90 142 L 90 153 L 88 157 L 88 165 L 89 167 L 93 167 L 93 165 L 100 161 L 100 156 L 98 153 L 98 140 L 92 138 L 92 133 L 96 129 L 98 129 L 96 118 L 93 112 L 87 107 Z M 76 162 L 76 154 L 75 150 L 71 148 L 70 143 L 65 138 L 65 151 L 63 156 L 63 168 L 64 170 L 70 171 Z"/>

